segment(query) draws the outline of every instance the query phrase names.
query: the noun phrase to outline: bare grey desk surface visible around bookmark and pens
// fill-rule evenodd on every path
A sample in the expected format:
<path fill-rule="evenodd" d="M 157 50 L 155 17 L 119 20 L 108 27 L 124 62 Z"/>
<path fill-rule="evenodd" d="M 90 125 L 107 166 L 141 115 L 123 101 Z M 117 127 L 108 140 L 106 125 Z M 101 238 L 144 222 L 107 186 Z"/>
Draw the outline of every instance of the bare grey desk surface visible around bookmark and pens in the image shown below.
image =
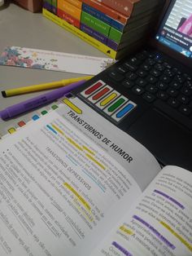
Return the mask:
<path fill-rule="evenodd" d="M 0 9 L 0 33 L 0 53 L 6 46 L 22 46 L 47 51 L 107 57 L 107 55 L 104 55 L 72 33 L 47 20 L 41 13 L 26 11 L 14 3 L 10 3 L 6 8 Z M 70 77 L 80 77 L 80 75 L 0 65 L 1 90 L 52 82 Z M 41 93 L 37 92 L 11 98 L 3 98 L 0 95 L 0 110 L 39 94 Z M 1 131 L 10 126 L 13 121 L 0 121 L 0 135 Z"/>

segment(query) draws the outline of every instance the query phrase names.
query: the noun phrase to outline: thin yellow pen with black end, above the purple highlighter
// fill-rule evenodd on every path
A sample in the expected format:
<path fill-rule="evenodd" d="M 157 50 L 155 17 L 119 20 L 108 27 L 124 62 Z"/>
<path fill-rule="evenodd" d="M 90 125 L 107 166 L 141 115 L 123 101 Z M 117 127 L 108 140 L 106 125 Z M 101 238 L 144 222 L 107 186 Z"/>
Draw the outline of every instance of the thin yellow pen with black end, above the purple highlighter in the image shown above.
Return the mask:
<path fill-rule="evenodd" d="M 23 86 L 23 87 L 18 87 L 18 88 L 9 89 L 9 90 L 2 90 L 2 96 L 4 98 L 7 98 L 10 96 L 23 95 L 25 93 L 38 91 L 38 90 L 54 89 L 54 88 L 58 88 L 61 86 L 68 86 L 69 84 L 71 84 L 73 82 L 79 82 L 81 80 L 89 80 L 92 77 L 93 76 L 69 78 L 69 79 L 63 79 L 63 80 L 60 80 L 57 82 L 48 82 L 48 83 L 43 83 L 40 85 Z"/>

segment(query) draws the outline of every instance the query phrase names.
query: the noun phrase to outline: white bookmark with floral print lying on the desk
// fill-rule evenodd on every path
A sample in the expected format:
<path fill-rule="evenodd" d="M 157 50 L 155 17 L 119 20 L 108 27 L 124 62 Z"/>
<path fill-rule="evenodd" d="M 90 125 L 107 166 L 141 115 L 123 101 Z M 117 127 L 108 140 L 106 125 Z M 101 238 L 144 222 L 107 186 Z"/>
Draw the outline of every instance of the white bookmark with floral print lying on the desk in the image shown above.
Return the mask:
<path fill-rule="evenodd" d="M 115 60 L 110 58 L 75 55 L 17 46 L 7 47 L 0 55 L 0 64 L 2 65 L 87 75 L 96 75 L 114 62 Z"/>

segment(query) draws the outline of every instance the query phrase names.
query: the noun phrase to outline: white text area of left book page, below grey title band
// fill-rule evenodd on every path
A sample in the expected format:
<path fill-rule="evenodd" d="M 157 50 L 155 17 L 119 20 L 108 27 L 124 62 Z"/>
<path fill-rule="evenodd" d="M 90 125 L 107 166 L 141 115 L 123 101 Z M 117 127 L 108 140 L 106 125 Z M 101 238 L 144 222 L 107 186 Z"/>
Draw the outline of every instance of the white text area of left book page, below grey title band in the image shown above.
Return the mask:
<path fill-rule="evenodd" d="M 0 255 L 90 255 L 140 194 L 129 165 L 47 114 L 0 143 Z"/>

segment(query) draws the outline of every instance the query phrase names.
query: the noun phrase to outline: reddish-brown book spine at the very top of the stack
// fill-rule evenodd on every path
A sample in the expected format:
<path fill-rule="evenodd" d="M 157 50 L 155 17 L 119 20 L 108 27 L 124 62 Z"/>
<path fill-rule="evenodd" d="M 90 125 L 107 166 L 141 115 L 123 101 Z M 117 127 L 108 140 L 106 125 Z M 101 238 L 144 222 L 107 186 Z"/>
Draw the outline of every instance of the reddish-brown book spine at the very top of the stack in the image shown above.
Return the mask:
<path fill-rule="evenodd" d="M 140 0 L 100 0 L 107 7 L 111 7 L 120 13 L 129 16 L 132 14 L 134 3 L 139 2 Z"/>

